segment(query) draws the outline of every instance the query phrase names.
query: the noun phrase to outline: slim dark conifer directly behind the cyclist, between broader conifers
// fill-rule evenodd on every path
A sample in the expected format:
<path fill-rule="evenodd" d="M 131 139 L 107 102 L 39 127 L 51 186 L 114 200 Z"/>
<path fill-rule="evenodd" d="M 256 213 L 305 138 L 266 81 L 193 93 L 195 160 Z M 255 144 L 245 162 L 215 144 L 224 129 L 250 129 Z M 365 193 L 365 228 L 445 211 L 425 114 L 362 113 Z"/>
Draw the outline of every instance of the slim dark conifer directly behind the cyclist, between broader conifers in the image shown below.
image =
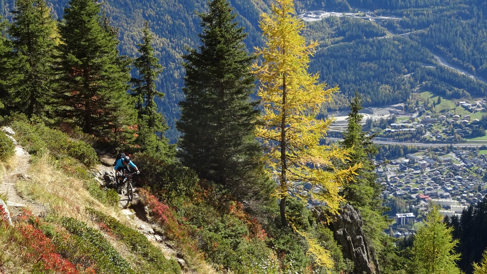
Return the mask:
<path fill-rule="evenodd" d="M 154 48 L 151 46 L 154 36 L 150 33 L 147 21 L 142 32 L 144 34 L 143 43 L 137 44 L 140 56 L 133 62 L 139 78 L 131 80 L 134 85 L 132 95 L 135 96 L 135 108 L 138 113 L 138 136 L 135 142 L 141 146 L 142 151 L 167 158 L 173 154 L 168 139 L 162 135 L 168 126 L 164 117 L 157 112 L 154 102 L 155 96 L 159 96 L 159 98 L 164 96 L 164 93 L 157 91 L 155 87 L 157 76 L 162 72 L 162 66 L 159 64 L 159 59 L 154 56 Z M 156 132 L 160 132 L 161 137 L 156 135 Z"/>

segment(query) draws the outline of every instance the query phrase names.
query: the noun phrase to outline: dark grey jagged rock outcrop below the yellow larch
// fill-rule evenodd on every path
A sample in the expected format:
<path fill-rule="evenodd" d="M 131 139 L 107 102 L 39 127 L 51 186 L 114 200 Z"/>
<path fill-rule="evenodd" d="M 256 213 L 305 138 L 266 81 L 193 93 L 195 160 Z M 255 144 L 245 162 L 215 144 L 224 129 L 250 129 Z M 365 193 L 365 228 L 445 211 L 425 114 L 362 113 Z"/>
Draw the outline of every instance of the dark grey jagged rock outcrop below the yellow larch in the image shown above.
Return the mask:
<path fill-rule="evenodd" d="M 354 274 L 379 274 L 379 263 L 362 230 L 362 217 L 350 204 L 338 212 L 340 215 L 334 218 L 330 229 L 341 245 L 343 257 L 354 262 Z"/>

